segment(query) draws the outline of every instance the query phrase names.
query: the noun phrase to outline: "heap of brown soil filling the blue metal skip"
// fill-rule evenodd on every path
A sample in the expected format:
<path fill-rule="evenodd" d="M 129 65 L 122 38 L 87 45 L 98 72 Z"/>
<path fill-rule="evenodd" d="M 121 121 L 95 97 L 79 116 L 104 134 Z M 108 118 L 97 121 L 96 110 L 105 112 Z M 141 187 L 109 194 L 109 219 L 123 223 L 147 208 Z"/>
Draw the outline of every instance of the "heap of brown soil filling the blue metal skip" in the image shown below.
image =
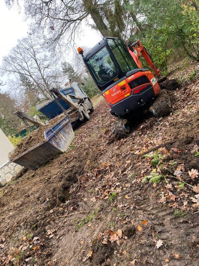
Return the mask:
<path fill-rule="evenodd" d="M 14 150 L 9 154 L 9 159 L 12 160 L 14 157 L 18 156 L 29 148 L 32 148 L 33 146 L 43 142 L 45 140 L 44 132 L 57 123 L 63 116 L 64 114 L 51 119 L 47 125 L 39 127 L 32 133 L 28 134 L 28 136 L 24 137 L 16 146 L 16 148 L 14 148 Z"/>

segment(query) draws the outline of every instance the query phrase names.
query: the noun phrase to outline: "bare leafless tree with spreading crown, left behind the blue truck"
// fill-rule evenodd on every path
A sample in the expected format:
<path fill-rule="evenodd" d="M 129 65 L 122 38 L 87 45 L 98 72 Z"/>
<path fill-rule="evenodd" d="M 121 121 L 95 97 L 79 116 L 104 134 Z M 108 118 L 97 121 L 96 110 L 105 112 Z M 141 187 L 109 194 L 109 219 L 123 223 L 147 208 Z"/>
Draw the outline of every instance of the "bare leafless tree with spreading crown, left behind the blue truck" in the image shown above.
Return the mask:
<path fill-rule="evenodd" d="M 32 35 L 18 44 L 2 60 L 1 74 L 15 76 L 17 89 L 37 91 L 40 97 L 51 98 L 49 89 L 63 83 L 61 68 L 57 60 L 43 51 L 38 39 Z"/>

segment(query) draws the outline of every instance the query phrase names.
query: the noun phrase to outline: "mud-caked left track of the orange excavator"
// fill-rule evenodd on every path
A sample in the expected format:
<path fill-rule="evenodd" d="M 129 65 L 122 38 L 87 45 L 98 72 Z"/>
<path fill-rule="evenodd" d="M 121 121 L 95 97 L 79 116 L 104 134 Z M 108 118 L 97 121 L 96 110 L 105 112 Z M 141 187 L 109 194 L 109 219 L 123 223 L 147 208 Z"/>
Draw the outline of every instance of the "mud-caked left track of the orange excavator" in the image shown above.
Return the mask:
<path fill-rule="evenodd" d="M 129 134 L 129 125 L 127 119 L 117 118 L 115 121 L 112 133 L 116 139 L 121 139 L 128 136 Z"/>

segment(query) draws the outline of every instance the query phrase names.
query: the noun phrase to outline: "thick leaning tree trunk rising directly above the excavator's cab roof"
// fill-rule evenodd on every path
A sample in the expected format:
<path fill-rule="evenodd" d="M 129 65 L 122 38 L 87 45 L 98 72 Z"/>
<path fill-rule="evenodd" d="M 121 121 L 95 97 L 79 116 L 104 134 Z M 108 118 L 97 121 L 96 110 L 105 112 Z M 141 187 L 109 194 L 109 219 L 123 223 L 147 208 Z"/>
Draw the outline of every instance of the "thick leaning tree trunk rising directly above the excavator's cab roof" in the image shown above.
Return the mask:
<path fill-rule="evenodd" d="M 92 0 L 83 0 L 85 9 L 88 11 L 88 13 L 91 15 L 93 21 L 96 24 L 97 29 L 100 31 L 101 35 L 103 37 L 109 36 L 110 31 L 106 24 L 104 23 L 98 9 L 96 6 L 93 4 Z"/>

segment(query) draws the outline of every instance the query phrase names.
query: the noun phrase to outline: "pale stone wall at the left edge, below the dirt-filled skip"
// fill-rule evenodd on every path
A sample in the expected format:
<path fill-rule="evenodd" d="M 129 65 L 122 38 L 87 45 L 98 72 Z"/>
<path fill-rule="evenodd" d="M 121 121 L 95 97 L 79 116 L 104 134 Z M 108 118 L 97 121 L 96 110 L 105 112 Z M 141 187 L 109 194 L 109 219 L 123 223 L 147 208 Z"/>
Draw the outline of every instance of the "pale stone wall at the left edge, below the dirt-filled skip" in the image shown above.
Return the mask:
<path fill-rule="evenodd" d="M 6 183 L 11 181 L 12 177 L 16 176 L 23 166 L 16 163 L 6 163 L 0 168 L 0 187 L 5 186 Z"/>

